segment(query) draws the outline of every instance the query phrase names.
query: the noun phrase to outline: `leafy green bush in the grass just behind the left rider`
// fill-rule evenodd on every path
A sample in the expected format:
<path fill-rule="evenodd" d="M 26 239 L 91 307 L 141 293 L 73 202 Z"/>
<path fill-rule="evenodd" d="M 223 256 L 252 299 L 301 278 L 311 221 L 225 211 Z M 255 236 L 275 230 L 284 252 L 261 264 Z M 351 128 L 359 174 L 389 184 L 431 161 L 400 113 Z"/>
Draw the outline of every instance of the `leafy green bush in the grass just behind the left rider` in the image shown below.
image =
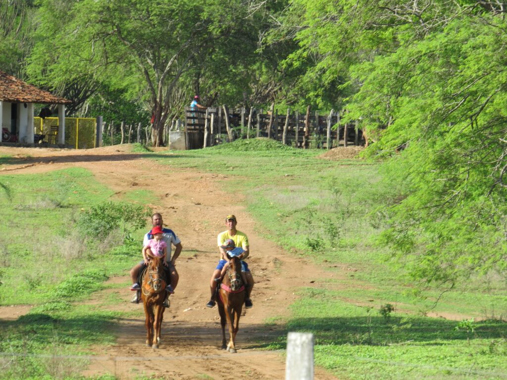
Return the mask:
<path fill-rule="evenodd" d="M 132 232 L 146 225 L 151 209 L 126 202 L 104 202 L 92 206 L 81 214 L 78 226 L 89 238 L 104 239 L 120 230 L 125 241 L 132 239 Z"/>

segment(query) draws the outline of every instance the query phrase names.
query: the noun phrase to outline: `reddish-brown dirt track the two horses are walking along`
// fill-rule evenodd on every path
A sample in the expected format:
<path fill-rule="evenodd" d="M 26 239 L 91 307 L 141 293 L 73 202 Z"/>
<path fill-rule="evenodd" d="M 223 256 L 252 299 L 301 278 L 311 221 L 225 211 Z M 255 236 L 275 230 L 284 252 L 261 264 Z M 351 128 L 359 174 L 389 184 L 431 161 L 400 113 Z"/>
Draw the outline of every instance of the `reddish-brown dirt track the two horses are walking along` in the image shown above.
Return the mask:
<path fill-rule="evenodd" d="M 145 374 L 168 379 L 284 378 L 282 353 L 259 350 L 273 336 L 280 335 L 281 326 L 267 327 L 263 322 L 268 317 L 286 316 L 299 287 L 318 286 L 318 279 L 330 274 L 260 237 L 241 196 L 232 196 L 219 187 L 220 175 L 159 165 L 130 153 L 127 145 L 89 150 L 0 146 L 1 154 L 16 155 L 20 162 L 4 165 L 0 174 L 42 173 L 79 166 L 93 172 L 119 198 L 132 189 L 154 191 L 158 201 L 150 206 L 162 213 L 165 224 L 182 240 L 184 252 L 176 262 L 180 282 L 171 297 L 171 308 L 164 315 L 161 349 L 152 351 L 144 345 L 143 318 L 125 319 L 118 326 L 117 344 L 97 349 L 96 355 L 103 360 L 92 361 L 84 374 L 112 373 L 119 378 Z M 238 229 L 250 240 L 248 262 L 256 280 L 252 292 L 254 307 L 240 320 L 237 354 L 219 349 L 218 311 L 204 307 L 209 296 L 209 277 L 219 258 L 216 234 L 225 230 L 224 216 L 231 213 L 238 218 Z M 195 252 L 186 254 L 189 250 Z M 127 274 L 110 281 L 126 283 Z M 100 307 L 103 295 L 94 294 L 87 303 Z M 117 310 L 142 308 L 129 303 L 131 295 L 127 288 L 122 289 L 120 296 L 124 301 Z M 9 309 L 11 315 L 16 312 Z M 315 378 L 336 377 L 317 369 Z"/>

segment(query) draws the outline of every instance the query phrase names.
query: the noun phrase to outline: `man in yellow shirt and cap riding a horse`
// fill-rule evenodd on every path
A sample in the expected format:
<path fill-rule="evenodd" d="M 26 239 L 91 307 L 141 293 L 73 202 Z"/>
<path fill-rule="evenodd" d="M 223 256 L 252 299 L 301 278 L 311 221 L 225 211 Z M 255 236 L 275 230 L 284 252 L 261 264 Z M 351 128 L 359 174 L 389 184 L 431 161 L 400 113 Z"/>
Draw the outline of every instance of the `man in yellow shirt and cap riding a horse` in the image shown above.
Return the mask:
<path fill-rule="evenodd" d="M 232 239 L 234 243 L 236 243 L 236 247 L 243 248 L 244 252 L 241 253 L 238 258 L 240 260 L 244 260 L 248 257 L 250 254 L 249 245 L 248 245 L 248 238 L 244 233 L 241 231 L 236 230 L 236 217 L 234 215 L 227 215 L 225 218 L 225 224 L 227 225 L 227 230 L 224 232 L 221 232 L 218 237 L 216 238 L 217 244 L 219 246 L 220 251 L 220 261 L 218 265 L 216 265 L 216 268 L 213 272 L 213 275 L 211 276 L 211 281 L 209 283 L 210 289 L 211 289 L 211 298 L 208 303 L 206 303 L 206 306 L 208 308 L 212 308 L 215 306 L 215 289 L 216 289 L 216 279 L 220 277 L 220 273 L 222 272 L 222 269 L 224 268 L 224 265 L 229 261 L 227 259 L 227 253 L 222 246 L 228 239 Z M 244 261 L 243 261 L 244 262 Z M 245 264 L 245 275 L 246 275 L 246 281 L 248 282 L 245 284 L 246 289 L 246 298 L 245 298 L 245 309 L 251 308 L 252 301 L 250 299 L 250 293 L 253 288 L 253 277 L 250 273 L 250 270 L 248 269 L 248 264 L 244 262 Z"/>

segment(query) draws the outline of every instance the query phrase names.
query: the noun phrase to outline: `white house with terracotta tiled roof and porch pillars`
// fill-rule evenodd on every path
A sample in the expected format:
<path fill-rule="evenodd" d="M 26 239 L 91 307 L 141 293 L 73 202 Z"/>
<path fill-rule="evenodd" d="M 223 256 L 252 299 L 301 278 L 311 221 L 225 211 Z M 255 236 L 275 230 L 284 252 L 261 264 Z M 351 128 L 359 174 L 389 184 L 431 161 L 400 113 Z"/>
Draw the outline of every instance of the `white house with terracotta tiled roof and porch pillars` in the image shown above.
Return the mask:
<path fill-rule="evenodd" d="M 11 141 L 32 144 L 33 103 L 58 104 L 58 144 L 65 143 L 65 104 L 70 100 L 55 96 L 0 71 L 0 127 Z"/>

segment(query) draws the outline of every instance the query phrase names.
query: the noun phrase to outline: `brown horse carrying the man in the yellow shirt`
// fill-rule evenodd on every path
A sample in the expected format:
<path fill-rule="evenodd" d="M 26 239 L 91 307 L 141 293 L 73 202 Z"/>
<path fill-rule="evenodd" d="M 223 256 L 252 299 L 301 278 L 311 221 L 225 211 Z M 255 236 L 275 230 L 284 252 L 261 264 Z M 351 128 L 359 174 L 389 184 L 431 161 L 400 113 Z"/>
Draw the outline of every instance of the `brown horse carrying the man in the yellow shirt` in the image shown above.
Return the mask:
<path fill-rule="evenodd" d="M 245 301 L 245 286 L 241 279 L 241 261 L 237 257 L 229 257 L 229 268 L 220 286 L 217 299 L 220 324 L 222 325 L 222 350 L 236 352 L 234 341 L 239 328 L 241 308 Z M 225 324 L 229 323 L 229 344 L 225 338 Z"/>

